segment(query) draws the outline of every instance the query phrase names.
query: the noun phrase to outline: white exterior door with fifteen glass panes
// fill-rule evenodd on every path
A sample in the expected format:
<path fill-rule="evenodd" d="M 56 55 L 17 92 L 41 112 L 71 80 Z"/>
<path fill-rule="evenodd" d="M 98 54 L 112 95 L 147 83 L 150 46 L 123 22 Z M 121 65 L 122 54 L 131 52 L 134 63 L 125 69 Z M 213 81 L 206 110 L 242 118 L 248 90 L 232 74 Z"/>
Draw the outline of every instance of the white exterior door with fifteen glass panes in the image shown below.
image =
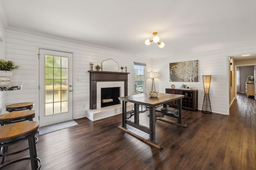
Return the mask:
<path fill-rule="evenodd" d="M 72 53 L 39 49 L 40 126 L 71 120 Z"/>

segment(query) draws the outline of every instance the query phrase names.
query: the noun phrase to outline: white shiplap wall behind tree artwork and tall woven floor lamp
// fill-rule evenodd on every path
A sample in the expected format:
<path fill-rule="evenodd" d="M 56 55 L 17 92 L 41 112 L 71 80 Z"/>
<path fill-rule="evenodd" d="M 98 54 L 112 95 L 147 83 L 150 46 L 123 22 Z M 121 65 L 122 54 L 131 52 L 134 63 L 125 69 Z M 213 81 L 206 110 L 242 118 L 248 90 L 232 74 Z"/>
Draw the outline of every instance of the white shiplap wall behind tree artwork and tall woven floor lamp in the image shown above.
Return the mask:
<path fill-rule="evenodd" d="M 212 75 L 210 84 L 210 103 L 212 112 L 229 114 L 229 56 L 255 54 L 256 44 L 241 47 L 212 50 L 188 55 L 170 55 L 161 59 L 152 59 L 152 71 L 160 72 L 160 78 L 155 79 L 158 90 L 162 93 L 165 88 L 174 84 L 179 88 L 182 84 L 198 90 L 198 109 L 202 109 L 204 100 L 203 75 Z M 169 82 L 169 63 L 198 60 L 198 82 Z M 157 64 L 156 64 L 157 63 Z"/>

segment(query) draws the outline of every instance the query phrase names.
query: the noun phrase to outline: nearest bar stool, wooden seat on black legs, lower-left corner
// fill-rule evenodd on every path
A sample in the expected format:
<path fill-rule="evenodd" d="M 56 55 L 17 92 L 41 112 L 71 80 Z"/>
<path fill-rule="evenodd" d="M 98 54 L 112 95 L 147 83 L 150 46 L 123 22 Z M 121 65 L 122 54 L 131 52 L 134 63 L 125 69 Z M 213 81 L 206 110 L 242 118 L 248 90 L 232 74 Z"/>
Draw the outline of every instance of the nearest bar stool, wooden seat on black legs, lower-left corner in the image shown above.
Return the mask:
<path fill-rule="evenodd" d="M 0 127 L 0 147 L 7 147 L 15 143 L 19 143 L 23 140 L 28 140 L 28 149 L 30 152 L 30 157 L 20 158 L 14 160 L 2 167 L 4 168 L 10 164 L 20 162 L 22 160 L 30 160 L 32 170 L 37 170 L 41 168 L 41 160 L 37 157 L 36 153 L 36 143 L 35 135 L 38 133 L 39 123 L 36 121 L 22 121 L 17 123 L 11 123 Z M 18 152 L 19 153 L 19 152 Z M 10 156 L 12 154 L 17 154 L 17 152 L 9 154 L 0 154 L 0 156 Z M 38 165 L 39 162 L 39 165 Z"/>

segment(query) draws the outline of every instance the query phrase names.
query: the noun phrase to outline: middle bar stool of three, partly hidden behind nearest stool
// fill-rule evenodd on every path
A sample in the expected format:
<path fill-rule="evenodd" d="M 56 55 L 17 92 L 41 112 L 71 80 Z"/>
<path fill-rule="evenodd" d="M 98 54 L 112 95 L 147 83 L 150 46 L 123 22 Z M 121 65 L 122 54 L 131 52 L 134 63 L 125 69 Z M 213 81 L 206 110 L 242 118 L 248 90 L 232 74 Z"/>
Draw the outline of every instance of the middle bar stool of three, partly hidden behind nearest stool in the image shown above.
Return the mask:
<path fill-rule="evenodd" d="M 36 117 L 36 111 L 35 110 L 21 110 L 21 111 L 14 111 L 12 113 L 5 113 L 0 115 L 0 126 L 7 125 L 10 123 L 16 123 L 21 121 L 33 121 L 33 118 Z M 38 141 L 38 138 L 35 137 L 36 143 Z M 8 147 L 3 147 L 2 154 L 5 154 Z M 28 148 L 27 148 L 28 149 Z M 26 149 L 24 149 L 26 150 Z M 23 151 L 23 150 L 22 150 Z M 1 163 L 4 163 L 4 156 L 2 157 Z"/>

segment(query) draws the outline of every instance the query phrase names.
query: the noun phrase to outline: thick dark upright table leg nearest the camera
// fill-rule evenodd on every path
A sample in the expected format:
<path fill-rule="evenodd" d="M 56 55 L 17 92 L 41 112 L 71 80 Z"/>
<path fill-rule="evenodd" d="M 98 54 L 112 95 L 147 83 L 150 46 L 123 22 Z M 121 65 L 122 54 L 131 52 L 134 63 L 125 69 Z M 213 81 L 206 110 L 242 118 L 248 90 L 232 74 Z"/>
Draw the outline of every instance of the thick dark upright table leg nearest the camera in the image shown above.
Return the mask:
<path fill-rule="evenodd" d="M 156 142 L 156 107 L 149 108 L 149 140 Z"/>

